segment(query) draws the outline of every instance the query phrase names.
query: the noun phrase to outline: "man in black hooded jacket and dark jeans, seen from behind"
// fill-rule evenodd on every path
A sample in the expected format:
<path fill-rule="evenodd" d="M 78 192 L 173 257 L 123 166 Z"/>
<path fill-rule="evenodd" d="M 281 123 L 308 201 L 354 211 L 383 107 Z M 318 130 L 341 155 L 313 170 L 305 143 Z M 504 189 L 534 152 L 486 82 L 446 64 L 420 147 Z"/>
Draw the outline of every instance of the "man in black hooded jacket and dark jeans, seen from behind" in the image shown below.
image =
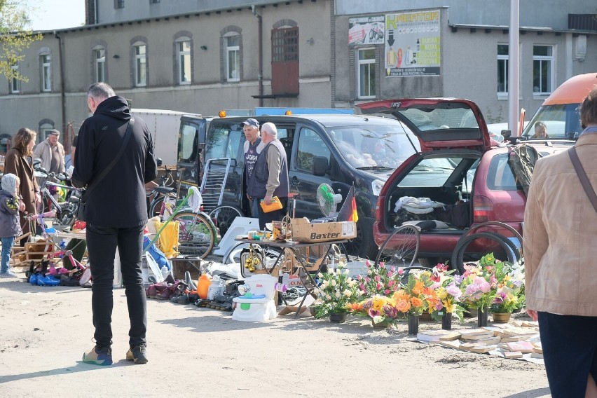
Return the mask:
<path fill-rule="evenodd" d="M 90 85 L 87 103 L 93 116 L 79 130 L 71 179 L 77 187 L 97 185 L 85 197 L 95 347 L 83 354 L 83 362 L 112 364 L 112 287 L 118 247 L 130 319 L 126 358 L 144 364 L 147 317 L 141 255 L 147 222 L 144 184 L 157 174 L 153 141 L 145 122 L 135 118 L 121 157 L 102 179 L 97 179 L 123 146 L 131 116 L 126 100 L 116 96 L 106 83 Z"/>

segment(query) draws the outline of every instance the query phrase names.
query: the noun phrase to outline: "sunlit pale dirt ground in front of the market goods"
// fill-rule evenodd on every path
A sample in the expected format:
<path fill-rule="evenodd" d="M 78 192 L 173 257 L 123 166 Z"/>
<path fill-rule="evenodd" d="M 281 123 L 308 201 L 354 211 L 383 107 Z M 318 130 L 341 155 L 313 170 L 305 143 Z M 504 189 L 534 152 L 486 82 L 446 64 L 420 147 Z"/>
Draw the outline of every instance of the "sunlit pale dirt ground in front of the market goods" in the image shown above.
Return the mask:
<path fill-rule="evenodd" d="M 406 322 L 238 322 L 166 301 L 148 301 L 149 363 L 135 365 L 125 360 L 124 289 L 114 290 L 114 365 L 85 364 L 90 289 L 31 286 L 22 275 L 0 280 L 2 397 L 549 397 L 544 366 L 406 341 Z"/>

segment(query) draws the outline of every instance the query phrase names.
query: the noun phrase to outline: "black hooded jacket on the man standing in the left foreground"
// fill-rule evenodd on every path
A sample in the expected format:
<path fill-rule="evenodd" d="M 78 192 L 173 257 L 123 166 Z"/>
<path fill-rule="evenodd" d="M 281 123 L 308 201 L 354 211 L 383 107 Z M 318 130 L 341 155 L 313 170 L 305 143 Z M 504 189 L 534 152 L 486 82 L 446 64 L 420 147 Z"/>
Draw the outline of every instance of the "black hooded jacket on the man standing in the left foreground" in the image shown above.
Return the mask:
<path fill-rule="evenodd" d="M 99 104 L 78 132 L 72 184 L 90 186 L 116 157 L 124 141 L 130 109 L 123 97 Z M 120 159 L 89 195 L 85 217 L 97 226 L 132 228 L 147 221 L 145 187 L 156 179 L 157 166 L 151 133 L 135 117 L 132 135 Z"/>

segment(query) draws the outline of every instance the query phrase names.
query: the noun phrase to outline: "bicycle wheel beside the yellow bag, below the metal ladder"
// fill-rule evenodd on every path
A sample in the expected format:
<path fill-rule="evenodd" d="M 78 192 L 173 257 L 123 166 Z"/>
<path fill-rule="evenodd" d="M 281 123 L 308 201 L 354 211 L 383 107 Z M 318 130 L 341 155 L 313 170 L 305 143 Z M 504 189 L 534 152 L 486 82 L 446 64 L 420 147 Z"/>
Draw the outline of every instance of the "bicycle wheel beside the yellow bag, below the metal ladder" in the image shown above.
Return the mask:
<path fill-rule="evenodd" d="M 172 221 L 179 221 L 178 251 L 183 256 L 194 256 L 200 259 L 212 252 L 216 240 L 216 231 L 205 214 L 178 212 Z"/>

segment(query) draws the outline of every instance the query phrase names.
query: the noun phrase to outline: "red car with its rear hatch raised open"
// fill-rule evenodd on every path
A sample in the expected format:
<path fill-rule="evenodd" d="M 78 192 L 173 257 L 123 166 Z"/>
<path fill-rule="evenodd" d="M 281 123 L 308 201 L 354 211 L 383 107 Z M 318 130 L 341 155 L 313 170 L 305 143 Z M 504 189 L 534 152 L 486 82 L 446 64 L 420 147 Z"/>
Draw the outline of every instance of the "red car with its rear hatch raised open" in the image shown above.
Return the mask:
<path fill-rule="evenodd" d="M 373 224 L 378 246 L 404 221 L 436 221 L 435 228 L 420 232 L 418 247 L 420 264 L 435 266 L 449 261 L 462 235 L 485 221 L 502 221 L 522 232 L 526 195 L 509 161 L 521 143 L 490 139 L 474 102 L 395 99 L 359 107 L 363 114 L 391 114 L 399 119 L 418 137 L 421 148 L 392 173 L 380 192 Z M 573 144 L 527 142 L 541 155 L 563 151 Z M 495 226 L 476 232 L 482 231 L 513 236 Z M 400 239 L 399 235 L 394 237 Z M 386 247 L 392 249 L 393 240 Z M 497 258 L 506 256 L 494 240 L 480 238 L 470 242 L 466 259 L 478 259 L 492 251 Z"/>

